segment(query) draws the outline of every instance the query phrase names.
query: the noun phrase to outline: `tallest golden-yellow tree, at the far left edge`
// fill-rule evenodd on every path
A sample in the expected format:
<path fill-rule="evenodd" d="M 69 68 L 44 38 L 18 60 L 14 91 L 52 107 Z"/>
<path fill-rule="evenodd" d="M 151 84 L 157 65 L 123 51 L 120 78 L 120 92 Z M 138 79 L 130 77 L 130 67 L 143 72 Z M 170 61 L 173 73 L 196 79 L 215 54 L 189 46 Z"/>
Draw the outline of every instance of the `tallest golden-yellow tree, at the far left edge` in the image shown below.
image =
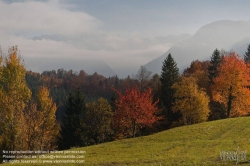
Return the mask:
<path fill-rule="evenodd" d="M 0 66 L 0 134 L 2 148 L 6 150 L 23 148 L 24 109 L 31 97 L 25 74 L 17 46 L 10 47 L 9 55 Z"/>

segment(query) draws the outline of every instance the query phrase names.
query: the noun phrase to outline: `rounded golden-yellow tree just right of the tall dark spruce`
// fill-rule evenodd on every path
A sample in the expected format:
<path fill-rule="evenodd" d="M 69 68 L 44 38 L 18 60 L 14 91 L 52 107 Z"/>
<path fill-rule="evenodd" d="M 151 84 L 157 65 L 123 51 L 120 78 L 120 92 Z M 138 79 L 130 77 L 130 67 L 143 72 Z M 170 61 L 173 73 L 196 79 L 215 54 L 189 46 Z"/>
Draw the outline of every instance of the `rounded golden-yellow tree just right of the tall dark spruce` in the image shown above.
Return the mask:
<path fill-rule="evenodd" d="M 209 97 L 198 87 L 195 78 L 182 76 L 172 88 L 175 89 L 176 98 L 173 112 L 181 113 L 183 124 L 189 125 L 207 120 L 210 112 Z"/>

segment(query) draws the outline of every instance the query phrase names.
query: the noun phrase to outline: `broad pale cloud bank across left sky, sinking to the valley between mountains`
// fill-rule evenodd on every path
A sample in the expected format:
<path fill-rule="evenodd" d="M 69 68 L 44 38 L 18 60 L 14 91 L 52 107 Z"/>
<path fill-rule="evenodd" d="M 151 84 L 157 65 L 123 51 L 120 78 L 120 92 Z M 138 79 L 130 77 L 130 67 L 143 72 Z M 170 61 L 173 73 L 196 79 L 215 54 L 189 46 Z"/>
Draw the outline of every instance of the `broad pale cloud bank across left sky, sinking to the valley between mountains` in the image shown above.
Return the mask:
<path fill-rule="evenodd" d="M 118 75 L 137 69 L 166 52 L 185 36 L 121 37 L 103 31 L 101 20 L 59 0 L 5 3 L 0 0 L 0 45 L 7 54 L 18 45 L 24 58 L 98 59 Z M 36 36 L 36 37 L 34 37 Z M 93 66 L 95 67 L 95 66 Z"/>

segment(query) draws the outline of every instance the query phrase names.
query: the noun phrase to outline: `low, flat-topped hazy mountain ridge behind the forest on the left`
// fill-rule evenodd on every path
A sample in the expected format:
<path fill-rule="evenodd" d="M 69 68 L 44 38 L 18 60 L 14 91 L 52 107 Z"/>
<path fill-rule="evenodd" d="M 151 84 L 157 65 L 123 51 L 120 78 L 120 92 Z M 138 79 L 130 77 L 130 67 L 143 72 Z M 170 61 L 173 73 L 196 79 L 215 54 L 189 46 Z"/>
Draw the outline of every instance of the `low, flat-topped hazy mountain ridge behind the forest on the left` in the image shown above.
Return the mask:
<path fill-rule="evenodd" d="M 105 77 L 111 77 L 116 73 L 103 61 L 100 60 L 78 60 L 78 59 L 57 59 L 57 58 L 31 58 L 24 57 L 27 70 L 43 72 L 46 70 L 84 70 L 88 74 L 97 72 Z"/>

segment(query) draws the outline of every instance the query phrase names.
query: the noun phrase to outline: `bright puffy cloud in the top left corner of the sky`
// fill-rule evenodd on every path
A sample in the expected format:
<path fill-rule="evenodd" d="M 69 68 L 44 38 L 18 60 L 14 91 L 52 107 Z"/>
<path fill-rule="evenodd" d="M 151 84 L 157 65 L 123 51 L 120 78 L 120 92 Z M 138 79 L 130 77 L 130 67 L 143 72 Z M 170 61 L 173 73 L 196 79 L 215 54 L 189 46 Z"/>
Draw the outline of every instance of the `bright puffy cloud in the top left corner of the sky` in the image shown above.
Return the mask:
<path fill-rule="evenodd" d="M 74 12 L 57 0 L 46 2 L 0 1 L 0 29 L 9 34 L 79 35 L 95 30 L 101 21 L 84 12 Z"/>

